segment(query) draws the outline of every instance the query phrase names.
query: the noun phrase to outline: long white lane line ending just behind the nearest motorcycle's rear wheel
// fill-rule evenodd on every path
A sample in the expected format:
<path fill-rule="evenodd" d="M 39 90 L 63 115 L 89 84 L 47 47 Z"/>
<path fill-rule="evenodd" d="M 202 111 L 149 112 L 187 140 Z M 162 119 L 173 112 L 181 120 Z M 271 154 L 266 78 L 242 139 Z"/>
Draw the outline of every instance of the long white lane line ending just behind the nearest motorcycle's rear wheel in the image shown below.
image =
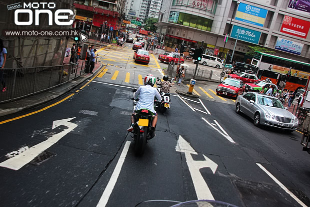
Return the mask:
<path fill-rule="evenodd" d="M 115 169 L 114 169 L 114 171 L 110 177 L 110 180 L 108 181 L 108 183 L 107 183 L 107 185 L 103 191 L 103 194 L 101 195 L 100 200 L 99 200 L 98 204 L 96 205 L 97 207 L 104 207 L 106 205 L 108 198 L 110 197 L 110 195 L 113 191 L 114 185 L 117 181 L 117 178 L 118 178 L 118 175 L 120 173 L 122 164 L 125 161 L 129 146 L 130 146 L 130 141 L 126 141 L 125 146 L 122 149 L 120 157 L 119 157 L 117 164 L 115 166 Z"/>

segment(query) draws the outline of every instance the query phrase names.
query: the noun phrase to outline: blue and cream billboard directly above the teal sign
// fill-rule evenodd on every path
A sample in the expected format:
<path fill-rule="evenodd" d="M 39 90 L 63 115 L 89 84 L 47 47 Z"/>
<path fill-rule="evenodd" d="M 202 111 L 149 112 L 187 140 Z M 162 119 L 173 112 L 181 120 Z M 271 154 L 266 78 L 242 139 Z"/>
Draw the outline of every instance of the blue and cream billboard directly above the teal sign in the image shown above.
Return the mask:
<path fill-rule="evenodd" d="M 240 3 L 235 19 L 263 27 L 268 10 Z"/>

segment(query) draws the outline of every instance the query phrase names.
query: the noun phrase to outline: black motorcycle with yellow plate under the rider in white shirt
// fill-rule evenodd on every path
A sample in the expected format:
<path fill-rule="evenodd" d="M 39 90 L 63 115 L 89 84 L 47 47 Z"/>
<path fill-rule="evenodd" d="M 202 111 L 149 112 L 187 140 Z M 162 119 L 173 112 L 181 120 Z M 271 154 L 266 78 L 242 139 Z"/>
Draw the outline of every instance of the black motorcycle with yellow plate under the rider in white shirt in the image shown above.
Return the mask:
<path fill-rule="evenodd" d="M 136 89 L 132 89 L 133 92 Z M 133 104 L 138 100 L 133 100 Z M 133 135 L 131 136 L 133 139 L 133 149 L 136 155 L 142 155 L 144 153 L 145 145 L 147 140 L 154 137 L 154 131 L 151 130 L 151 122 L 155 115 L 147 109 L 136 110 L 132 113 L 134 118 L 134 126 L 133 126 Z"/>

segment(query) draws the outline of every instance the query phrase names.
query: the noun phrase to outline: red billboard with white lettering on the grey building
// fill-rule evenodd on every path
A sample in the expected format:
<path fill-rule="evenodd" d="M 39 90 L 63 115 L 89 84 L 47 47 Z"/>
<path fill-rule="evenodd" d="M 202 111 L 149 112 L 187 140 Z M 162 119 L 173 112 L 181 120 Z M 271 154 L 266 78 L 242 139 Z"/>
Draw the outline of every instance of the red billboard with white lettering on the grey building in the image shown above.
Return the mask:
<path fill-rule="evenodd" d="M 280 32 L 299 38 L 306 38 L 309 28 L 310 22 L 285 15 Z"/>

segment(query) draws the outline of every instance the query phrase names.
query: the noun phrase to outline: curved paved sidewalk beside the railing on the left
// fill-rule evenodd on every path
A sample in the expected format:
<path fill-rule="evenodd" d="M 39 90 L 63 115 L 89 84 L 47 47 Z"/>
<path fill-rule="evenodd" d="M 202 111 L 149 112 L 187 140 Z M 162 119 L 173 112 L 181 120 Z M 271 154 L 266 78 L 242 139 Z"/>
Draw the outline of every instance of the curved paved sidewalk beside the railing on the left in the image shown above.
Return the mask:
<path fill-rule="evenodd" d="M 70 59 L 70 56 L 65 57 L 63 60 L 64 64 L 69 63 L 69 59 Z M 82 62 L 82 60 L 78 60 L 79 64 L 81 62 Z M 60 85 L 58 87 L 55 87 L 49 91 L 42 92 L 42 93 L 35 94 L 35 95 L 31 95 L 31 96 L 27 96 L 25 98 L 18 99 L 16 101 L 0 104 L 0 117 L 6 116 L 9 114 L 13 114 L 13 113 L 16 113 L 19 111 L 23 111 L 26 109 L 30 109 L 30 108 L 33 108 L 35 106 L 41 105 L 43 103 L 52 101 L 53 99 L 56 99 L 56 98 L 62 96 L 63 94 L 69 92 L 70 90 L 72 90 L 73 88 L 75 88 L 76 86 L 81 84 L 82 82 L 93 77 L 95 75 L 95 73 L 98 70 L 100 70 L 102 67 L 103 67 L 103 65 L 100 62 L 97 62 L 95 64 L 94 69 L 93 69 L 93 74 L 85 73 L 85 74 L 82 74 L 81 76 L 79 76 L 73 80 L 70 80 L 68 83 Z"/>

